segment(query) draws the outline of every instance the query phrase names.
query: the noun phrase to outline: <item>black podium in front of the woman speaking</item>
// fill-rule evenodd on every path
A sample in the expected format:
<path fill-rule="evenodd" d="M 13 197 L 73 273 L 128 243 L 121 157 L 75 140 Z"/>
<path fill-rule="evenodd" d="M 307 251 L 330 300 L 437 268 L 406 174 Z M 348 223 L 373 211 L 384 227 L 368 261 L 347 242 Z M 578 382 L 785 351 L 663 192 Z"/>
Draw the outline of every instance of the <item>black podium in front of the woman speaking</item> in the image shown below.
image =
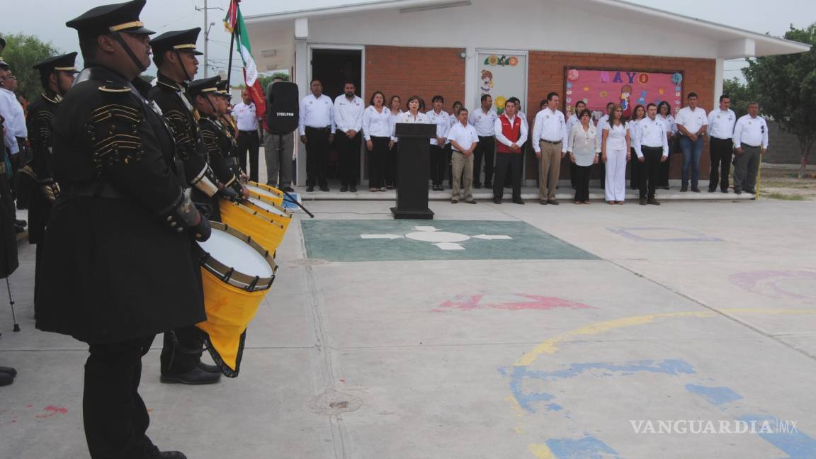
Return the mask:
<path fill-rule="evenodd" d="M 431 220 L 428 208 L 428 154 L 430 140 L 437 136 L 436 124 L 397 123 L 399 142 L 397 169 L 397 207 L 391 207 L 394 218 Z"/>

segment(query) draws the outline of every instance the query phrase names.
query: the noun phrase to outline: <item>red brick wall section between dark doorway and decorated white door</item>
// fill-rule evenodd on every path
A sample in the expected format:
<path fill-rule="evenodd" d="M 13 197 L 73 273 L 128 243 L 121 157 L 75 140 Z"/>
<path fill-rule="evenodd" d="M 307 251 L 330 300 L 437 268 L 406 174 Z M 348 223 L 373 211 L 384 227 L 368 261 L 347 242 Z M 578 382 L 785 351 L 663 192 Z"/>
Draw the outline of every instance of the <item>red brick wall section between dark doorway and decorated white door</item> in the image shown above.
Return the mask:
<path fill-rule="evenodd" d="M 445 97 L 445 109 L 455 100 L 464 103 L 463 48 L 366 47 L 366 95 L 383 91 L 388 99 L 400 96 L 403 109 L 408 97 L 417 95 L 431 109 L 431 98 Z"/>

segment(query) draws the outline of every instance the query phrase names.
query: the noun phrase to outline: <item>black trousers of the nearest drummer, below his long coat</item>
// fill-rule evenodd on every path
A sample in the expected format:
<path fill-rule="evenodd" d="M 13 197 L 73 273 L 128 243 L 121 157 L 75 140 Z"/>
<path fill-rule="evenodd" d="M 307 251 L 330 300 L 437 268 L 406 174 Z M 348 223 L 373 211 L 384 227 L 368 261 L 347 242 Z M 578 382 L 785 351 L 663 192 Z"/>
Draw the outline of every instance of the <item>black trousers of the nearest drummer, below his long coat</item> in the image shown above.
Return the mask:
<path fill-rule="evenodd" d="M 90 344 L 85 363 L 82 421 L 92 459 L 144 459 L 153 443 L 139 395 L 142 356 L 155 336 L 116 343 Z"/>

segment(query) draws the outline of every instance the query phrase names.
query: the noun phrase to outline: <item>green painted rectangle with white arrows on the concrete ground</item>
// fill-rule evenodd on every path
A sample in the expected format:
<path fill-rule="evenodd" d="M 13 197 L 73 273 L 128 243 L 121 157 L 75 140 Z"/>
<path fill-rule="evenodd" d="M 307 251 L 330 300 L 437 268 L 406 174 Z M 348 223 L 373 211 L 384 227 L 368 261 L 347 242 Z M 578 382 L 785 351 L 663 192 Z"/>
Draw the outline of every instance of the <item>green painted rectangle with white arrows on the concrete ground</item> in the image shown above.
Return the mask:
<path fill-rule="evenodd" d="M 308 220 L 306 252 L 327 261 L 597 260 L 523 221 Z"/>

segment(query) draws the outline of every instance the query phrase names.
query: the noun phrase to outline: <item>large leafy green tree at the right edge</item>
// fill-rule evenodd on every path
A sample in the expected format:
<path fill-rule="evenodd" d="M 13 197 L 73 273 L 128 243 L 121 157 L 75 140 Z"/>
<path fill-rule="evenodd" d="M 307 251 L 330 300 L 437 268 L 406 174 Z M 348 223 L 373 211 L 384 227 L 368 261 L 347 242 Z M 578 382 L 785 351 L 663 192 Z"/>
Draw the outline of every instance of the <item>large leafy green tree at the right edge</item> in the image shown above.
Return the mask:
<path fill-rule="evenodd" d="M 813 45 L 810 51 L 749 60 L 743 74 L 760 109 L 799 139 L 799 176 L 805 175 L 816 140 L 816 24 L 791 29 L 785 38 Z"/>

